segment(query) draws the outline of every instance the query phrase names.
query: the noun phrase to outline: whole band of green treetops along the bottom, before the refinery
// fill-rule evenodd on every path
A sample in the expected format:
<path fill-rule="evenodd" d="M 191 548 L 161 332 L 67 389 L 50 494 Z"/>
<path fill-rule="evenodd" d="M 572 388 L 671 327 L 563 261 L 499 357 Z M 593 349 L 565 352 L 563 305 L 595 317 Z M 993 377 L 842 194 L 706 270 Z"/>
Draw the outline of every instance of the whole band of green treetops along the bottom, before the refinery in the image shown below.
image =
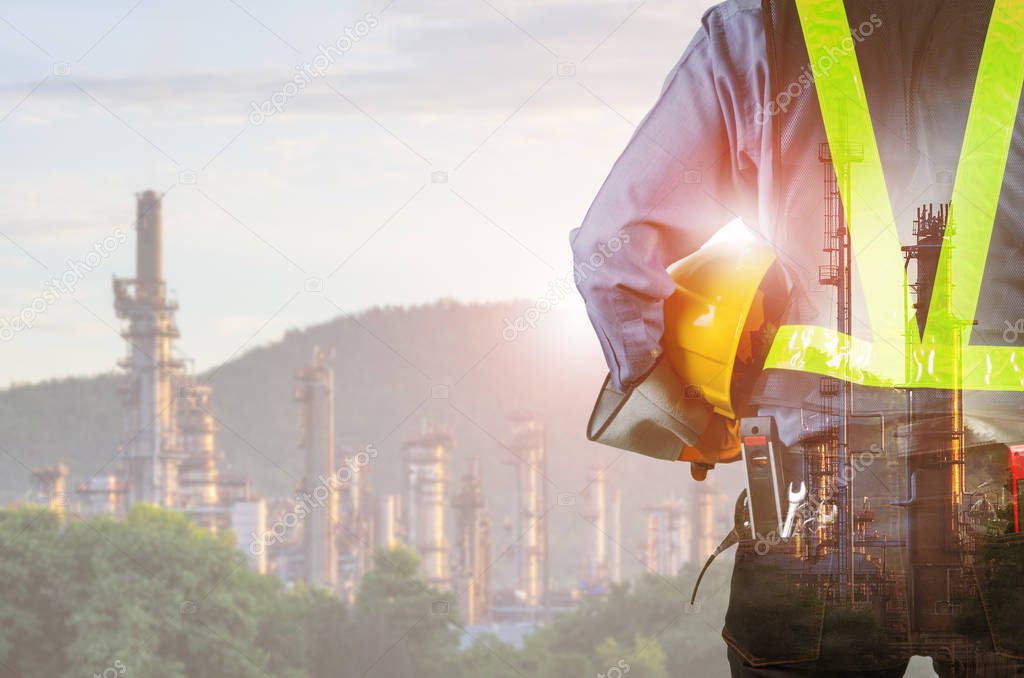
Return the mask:
<path fill-rule="evenodd" d="M 122 522 L 0 511 L 0 674 L 23 678 L 561 678 L 724 669 L 725 568 L 688 607 L 693 573 L 616 587 L 527 636 L 460 647 L 455 598 L 406 548 L 375 554 L 349 609 L 330 593 L 253 575 L 229 535 L 136 506 Z M 475 632 L 474 632 L 475 633 Z M 472 636 L 470 636 L 472 638 Z M 703 672 L 712 675 L 713 671 Z"/>

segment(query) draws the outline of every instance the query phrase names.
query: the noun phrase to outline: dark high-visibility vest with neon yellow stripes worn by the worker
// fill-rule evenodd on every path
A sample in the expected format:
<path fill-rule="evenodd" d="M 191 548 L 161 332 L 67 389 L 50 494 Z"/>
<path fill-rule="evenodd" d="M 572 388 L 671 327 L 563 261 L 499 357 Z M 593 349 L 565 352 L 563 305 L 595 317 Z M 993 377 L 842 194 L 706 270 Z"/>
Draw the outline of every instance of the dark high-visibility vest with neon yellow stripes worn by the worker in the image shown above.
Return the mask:
<path fill-rule="evenodd" d="M 809 375 L 1024 391 L 1024 2 L 762 6 L 771 95 L 758 117 L 773 145 L 762 170 L 774 175 L 778 207 L 762 230 L 797 293 L 760 400 L 793 401 Z M 849 179 L 838 185 L 853 255 L 850 333 L 837 331 L 835 294 L 818 281 L 825 140 Z M 920 332 L 901 246 L 929 202 L 951 210 Z"/>

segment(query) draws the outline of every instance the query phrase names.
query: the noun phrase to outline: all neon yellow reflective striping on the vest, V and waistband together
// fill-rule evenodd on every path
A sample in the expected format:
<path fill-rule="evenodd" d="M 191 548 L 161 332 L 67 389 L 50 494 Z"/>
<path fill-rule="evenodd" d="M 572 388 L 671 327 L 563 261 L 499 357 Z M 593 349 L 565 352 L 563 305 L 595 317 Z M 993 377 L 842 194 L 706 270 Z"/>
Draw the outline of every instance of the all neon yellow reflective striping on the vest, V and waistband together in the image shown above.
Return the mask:
<path fill-rule="evenodd" d="M 1024 41 L 1018 38 L 1024 3 L 996 0 L 993 8 L 923 341 L 905 312 L 910 290 L 843 0 L 797 0 L 797 6 L 837 176 L 842 154 L 863 150 L 851 180 L 839 183 L 871 340 L 786 326 L 765 367 L 871 386 L 1024 390 L 1024 350 L 967 345 L 1024 85 Z"/>

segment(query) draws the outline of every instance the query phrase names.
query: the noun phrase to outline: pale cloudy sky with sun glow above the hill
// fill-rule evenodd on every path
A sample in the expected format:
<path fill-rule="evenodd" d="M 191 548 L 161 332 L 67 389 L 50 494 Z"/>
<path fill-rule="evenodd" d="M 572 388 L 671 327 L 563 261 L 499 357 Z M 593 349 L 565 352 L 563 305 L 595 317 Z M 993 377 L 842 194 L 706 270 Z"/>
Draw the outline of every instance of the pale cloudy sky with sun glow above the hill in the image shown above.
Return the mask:
<path fill-rule="evenodd" d="M 0 386 L 114 369 L 147 188 L 200 370 L 377 305 L 542 297 L 707 7 L 3 0 Z"/>

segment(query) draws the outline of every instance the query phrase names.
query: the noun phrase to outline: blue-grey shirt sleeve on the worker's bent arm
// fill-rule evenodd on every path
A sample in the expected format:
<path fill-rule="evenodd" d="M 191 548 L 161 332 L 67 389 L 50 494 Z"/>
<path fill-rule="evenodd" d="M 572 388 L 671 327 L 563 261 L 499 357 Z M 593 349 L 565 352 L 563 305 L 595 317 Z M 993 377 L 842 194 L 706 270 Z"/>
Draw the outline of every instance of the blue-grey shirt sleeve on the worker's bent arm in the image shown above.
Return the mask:
<path fill-rule="evenodd" d="M 663 303 L 675 289 L 666 268 L 733 219 L 754 225 L 759 154 L 743 138 L 759 48 L 764 61 L 760 26 L 705 15 L 570 235 L 577 287 L 620 389 L 660 355 Z"/>

